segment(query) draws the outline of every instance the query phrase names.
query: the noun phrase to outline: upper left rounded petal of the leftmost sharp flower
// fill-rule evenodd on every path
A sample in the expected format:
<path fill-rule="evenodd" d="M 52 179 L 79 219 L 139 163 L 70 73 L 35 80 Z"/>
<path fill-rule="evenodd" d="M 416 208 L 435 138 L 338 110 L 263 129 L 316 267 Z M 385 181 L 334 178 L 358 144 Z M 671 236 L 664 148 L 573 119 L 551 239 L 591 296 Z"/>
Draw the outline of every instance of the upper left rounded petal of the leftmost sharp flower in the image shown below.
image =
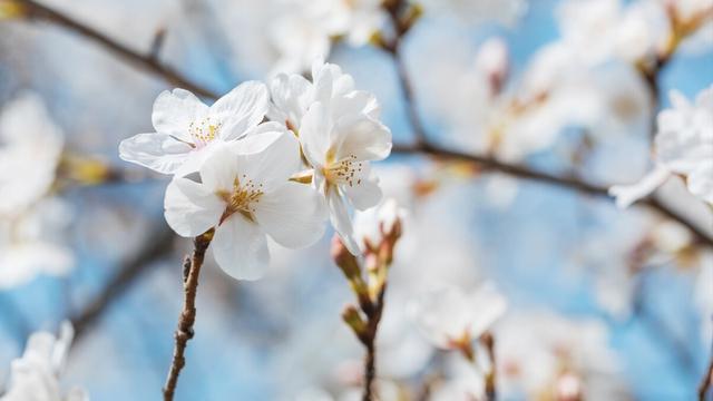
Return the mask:
<path fill-rule="evenodd" d="M 164 90 L 154 101 L 152 121 L 156 131 L 191 140 L 188 125 L 208 113 L 195 95 L 185 89 Z"/>

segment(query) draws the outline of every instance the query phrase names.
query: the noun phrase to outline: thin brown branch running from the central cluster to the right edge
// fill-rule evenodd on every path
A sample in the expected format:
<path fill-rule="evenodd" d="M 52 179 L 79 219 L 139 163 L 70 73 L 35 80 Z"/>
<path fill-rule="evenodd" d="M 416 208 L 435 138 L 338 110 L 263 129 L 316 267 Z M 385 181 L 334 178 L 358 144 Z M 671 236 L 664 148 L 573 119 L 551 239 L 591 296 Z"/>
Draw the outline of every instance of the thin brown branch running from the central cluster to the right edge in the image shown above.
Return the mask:
<path fill-rule="evenodd" d="M 544 172 L 537 172 L 522 165 L 500 162 L 490 156 L 479 156 L 458 150 L 450 150 L 432 144 L 394 145 L 392 151 L 394 154 L 402 155 L 427 155 L 437 159 L 475 163 L 486 170 L 499 172 L 522 179 L 549 184 L 565 189 L 574 189 L 586 195 L 613 199 L 608 195 L 608 187 L 606 186 L 589 184 L 576 177 L 558 176 Z M 711 238 L 703 229 L 697 227 L 695 224 L 688 222 L 684 216 L 664 205 L 658 198 L 648 197 L 638 200 L 637 204 L 647 206 L 656 211 L 661 215 L 678 222 L 695 235 L 696 241 L 700 244 L 713 247 L 713 238 Z"/>

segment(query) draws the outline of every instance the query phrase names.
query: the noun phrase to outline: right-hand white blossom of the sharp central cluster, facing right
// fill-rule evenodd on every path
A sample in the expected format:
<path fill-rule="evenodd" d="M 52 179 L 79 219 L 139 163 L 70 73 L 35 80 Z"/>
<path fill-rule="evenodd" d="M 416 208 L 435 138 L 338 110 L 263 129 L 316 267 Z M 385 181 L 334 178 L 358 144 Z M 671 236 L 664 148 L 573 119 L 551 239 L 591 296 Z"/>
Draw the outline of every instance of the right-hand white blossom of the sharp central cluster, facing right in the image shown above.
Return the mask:
<path fill-rule="evenodd" d="M 381 200 L 369 162 L 391 153 L 391 131 L 378 119 L 373 95 L 335 65 L 315 62 L 310 85 L 293 76 L 273 84 L 271 118 L 299 135 L 312 184 L 325 197 L 332 225 L 353 254 L 360 252 L 346 204 L 364 211 Z"/>

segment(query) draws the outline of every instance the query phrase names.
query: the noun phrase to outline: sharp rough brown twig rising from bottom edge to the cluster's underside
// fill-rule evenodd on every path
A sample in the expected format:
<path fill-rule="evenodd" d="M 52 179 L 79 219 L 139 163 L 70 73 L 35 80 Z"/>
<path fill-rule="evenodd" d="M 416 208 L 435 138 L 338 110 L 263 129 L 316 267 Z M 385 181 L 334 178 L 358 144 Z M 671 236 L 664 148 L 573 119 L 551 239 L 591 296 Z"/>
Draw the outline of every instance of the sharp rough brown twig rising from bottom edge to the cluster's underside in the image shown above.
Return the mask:
<path fill-rule="evenodd" d="M 176 384 L 178 384 L 178 375 L 180 370 L 186 365 L 186 358 L 184 353 L 188 340 L 193 339 L 193 324 L 196 321 L 196 293 L 198 291 L 198 276 L 201 275 L 201 267 L 203 266 L 203 260 L 205 252 L 213 241 L 214 229 L 205 232 L 194 239 L 193 255 L 184 262 L 184 304 L 180 316 L 178 317 L 178 327 L 176 329 L 175 340 L 176 345 L 174 348 L 174 358 L 168 370 L 168 376 L 166 378 L 166 384 L 164 387 L 164 400 L 170 401 L 174 399 L 176 391 Z"/>

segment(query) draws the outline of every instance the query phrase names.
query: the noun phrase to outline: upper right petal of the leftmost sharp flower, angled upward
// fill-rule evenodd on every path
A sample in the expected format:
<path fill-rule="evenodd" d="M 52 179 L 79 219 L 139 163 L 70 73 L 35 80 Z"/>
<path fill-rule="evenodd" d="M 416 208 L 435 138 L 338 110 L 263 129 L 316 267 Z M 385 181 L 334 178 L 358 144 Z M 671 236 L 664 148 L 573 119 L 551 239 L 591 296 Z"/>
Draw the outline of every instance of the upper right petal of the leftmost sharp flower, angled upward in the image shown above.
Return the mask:
<path fill-rule="evenodd" d="M 238 85 L 211 106 L 211 114 L 223 123 L 219 136 L 233 140 L 258 125 L 270 106 L 270 94 L 265 84 L 247 81 Z"/>

